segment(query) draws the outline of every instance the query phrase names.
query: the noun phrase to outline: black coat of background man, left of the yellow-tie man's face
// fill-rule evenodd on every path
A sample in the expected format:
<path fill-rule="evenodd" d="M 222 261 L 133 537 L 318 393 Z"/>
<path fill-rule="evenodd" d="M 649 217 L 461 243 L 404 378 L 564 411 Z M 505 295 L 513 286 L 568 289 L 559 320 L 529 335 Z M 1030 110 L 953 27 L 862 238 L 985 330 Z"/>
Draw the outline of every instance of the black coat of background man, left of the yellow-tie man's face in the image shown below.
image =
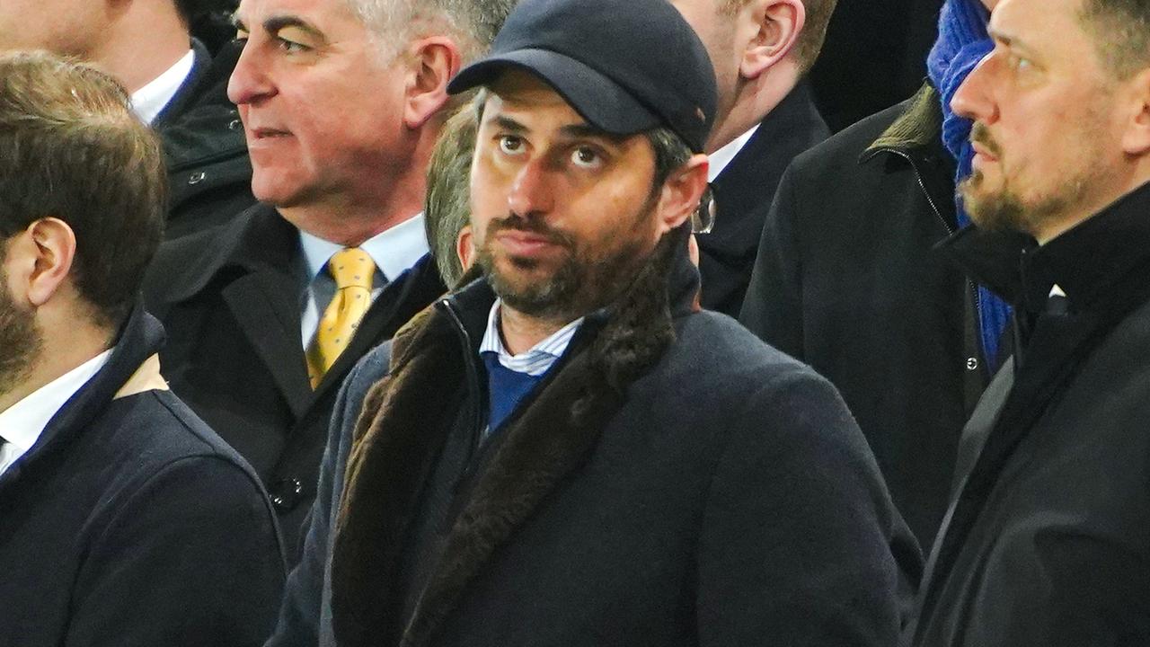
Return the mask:
<path fill-rule="evenodd" d="M 192 71 L 152 123 L 168 169 L 168 239 L 229 222 L 255 204 L 244 124 L 228 99 L 240 50 L 229 43 L 213 55 L 193 40 Z"/>

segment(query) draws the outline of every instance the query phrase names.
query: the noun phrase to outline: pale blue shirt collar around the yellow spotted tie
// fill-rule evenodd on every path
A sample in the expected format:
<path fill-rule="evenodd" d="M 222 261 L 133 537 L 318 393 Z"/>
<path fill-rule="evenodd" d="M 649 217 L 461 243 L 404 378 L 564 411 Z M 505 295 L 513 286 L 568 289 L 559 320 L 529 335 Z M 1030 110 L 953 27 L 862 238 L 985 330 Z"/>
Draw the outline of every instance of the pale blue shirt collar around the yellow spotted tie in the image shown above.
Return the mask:
<path fill-rule="evenodd" d="M 324 241 L 302 229 L 299 231 L 299 243 L 307 261 L 309 279 L 319 276 L 331 256 L 344 249 L 339 243 Z M 388 281 L 394 281 L 430 249 L 423 231 L 423 214 L 417 213 L 386 231 L 376 234 L 360 243 L 359 248 L 371 257 L 375 267 Z"/>

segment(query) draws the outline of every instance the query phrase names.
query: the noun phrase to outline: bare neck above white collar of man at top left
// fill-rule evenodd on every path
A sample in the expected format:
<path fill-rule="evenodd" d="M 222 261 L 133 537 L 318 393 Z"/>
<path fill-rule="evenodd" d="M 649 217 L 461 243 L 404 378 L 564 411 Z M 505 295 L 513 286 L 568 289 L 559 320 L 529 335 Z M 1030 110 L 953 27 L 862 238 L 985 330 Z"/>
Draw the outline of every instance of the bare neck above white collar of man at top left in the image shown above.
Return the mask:
<path fill-rule="evenodd" d="M 86 58 L 136 92 L 187 54 L 191 37 L 174 2 L 130 2 Z"/>

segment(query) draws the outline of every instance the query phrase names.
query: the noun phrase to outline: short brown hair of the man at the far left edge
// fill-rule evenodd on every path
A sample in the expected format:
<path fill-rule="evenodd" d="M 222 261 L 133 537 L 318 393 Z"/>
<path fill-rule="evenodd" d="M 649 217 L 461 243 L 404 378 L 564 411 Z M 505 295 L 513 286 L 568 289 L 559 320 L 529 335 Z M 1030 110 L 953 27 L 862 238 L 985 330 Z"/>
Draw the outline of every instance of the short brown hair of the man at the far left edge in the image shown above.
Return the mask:
<path fill-rule="evenodd" d="M 0 236 L 57 218 L 76 236 L 71 279 L 118 327 L 163 231 L 160 145 L 112 76 L 46 52 L 0 55 Z"/>

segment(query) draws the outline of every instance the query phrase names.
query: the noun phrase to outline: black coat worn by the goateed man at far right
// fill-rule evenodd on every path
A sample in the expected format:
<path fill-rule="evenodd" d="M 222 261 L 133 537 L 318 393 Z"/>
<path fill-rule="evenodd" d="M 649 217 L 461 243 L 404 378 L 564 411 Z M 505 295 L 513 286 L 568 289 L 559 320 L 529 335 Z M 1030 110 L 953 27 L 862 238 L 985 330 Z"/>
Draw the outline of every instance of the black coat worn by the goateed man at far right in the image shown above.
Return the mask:
<path fill-rule="evenodd" d="M 1150 184 L 1022 249 L 948 242 L 1021 343 L 964 431 L 913 644 L 1150 645 Z"/>

